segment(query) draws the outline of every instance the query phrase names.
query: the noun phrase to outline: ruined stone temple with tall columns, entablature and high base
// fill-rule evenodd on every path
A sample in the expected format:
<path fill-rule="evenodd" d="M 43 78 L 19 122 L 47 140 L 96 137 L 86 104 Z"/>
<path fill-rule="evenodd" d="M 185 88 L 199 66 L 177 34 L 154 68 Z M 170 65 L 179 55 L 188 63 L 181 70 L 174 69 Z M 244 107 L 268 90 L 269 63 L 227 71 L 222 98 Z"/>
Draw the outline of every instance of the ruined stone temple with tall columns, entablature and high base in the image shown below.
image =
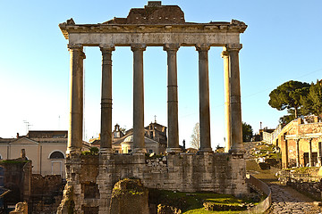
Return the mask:
<path fill-rule="evenodd" d="M 179 6 L 148 2 L 131 9 L 127 18 L 99 24 L 59 25 L 71 53 L 71 114 L 66 158 L 67 185 L 57 213 L 109 213 L 113 185 L 124 177 L 137 177 L 150 188 L 186 192 L 248 193 L 242 146 L 242 111 L 239 70 L 242 21 L 192 23 Z M 97 156 L 82 156 L 83 46 L 102 52 L 101 145 Z M 116 46 L 133 52 L 133 144 L 130 155 L 112 152 L 112 53 Z M 147 160 L 144 144 L 143 53 L 147 46 L 163 46 L 167 53 L 168 142 L 165 157 Z M 199 53 L 199 127 L 197 154 L 183 153 L 178 134 L 176 53 L 195 46 Z M 214 153 L 210 141 L 208 50 L 223 46 L 225 63 L 225 153 Z M 90 193 L 89 193 L 90 192 Z M 74 204 L 73 206 L 71 204 Z"/>

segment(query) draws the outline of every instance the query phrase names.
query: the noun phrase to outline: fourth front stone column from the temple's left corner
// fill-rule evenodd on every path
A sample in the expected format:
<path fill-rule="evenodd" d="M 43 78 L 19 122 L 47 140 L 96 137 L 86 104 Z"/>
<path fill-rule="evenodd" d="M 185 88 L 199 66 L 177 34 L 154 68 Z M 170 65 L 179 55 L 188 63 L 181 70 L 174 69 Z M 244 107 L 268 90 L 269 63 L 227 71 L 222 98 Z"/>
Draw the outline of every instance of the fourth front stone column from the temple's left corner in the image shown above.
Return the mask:
<path fill-rule="evenodd" d="M 168 117 L 168 143 L 166 152 L 181 152 L 179 147 L 179 122 L 178 122 L 178 83 L 177 83 L 177 44 L 166 44 L 167 53 L 167 117 Z"/>

